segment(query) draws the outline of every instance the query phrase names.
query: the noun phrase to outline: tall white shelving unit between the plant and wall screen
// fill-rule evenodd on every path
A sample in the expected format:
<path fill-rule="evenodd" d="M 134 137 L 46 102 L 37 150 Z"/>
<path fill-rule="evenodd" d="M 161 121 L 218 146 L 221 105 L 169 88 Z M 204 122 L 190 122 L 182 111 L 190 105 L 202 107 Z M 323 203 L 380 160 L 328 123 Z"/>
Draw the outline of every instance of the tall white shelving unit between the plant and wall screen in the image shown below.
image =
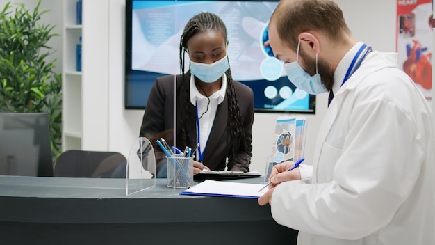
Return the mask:
<path fill-rule="evenodd" d="M 108 150 L 109 1 L 82 1 L 82 25 L 76 24 L 76 0 L 64 0 L 63 6 L 63 151 Z"/>

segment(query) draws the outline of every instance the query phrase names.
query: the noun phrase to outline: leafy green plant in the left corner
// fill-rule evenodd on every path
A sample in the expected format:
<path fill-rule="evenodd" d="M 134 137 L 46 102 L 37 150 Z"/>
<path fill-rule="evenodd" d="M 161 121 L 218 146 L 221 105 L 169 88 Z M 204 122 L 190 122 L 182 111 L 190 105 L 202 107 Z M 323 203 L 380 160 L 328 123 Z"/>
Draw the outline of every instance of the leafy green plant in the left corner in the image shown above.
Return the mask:
<path fill-rule="evenodd" d="M 0 13 L 0 112 L 49 114 L 54 160 L 61 152 L 62 81 L 54 72 L 56 59 L 47 42 L 58 36 L 54 25 L 40 24 L 40 3 L 33 11 L 6 3 Z M 55 162 L 55 161 L 54 161 Z"/>

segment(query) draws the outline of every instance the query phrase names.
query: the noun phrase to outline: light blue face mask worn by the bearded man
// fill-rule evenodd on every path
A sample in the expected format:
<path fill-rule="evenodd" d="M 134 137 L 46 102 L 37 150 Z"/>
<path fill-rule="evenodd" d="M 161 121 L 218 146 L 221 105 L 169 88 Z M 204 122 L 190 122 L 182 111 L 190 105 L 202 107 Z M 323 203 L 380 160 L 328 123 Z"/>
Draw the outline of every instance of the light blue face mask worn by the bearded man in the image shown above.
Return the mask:
<path fill-rule="evenodd" d="M 327 92 L 325 86 L 322 84 L 322 80 L 320 79 L 320 74 L 317 72 L 317 59 L 318 54 L 315 54 L 315 75 L 310 76 L 310 74 L 306 73 L 304 68 L 302 68 L 298 61 L 299 58 L 299 46 L 301 42 L 297 44 L 297 54 L 296 61 L 292 63 L 284 64 L 284 69 L 286 70 L 288 80 L 299 88 L 300 90 L 304 90 L 306 93 L 311 95 L 317 95 L 320 93 Z"/>

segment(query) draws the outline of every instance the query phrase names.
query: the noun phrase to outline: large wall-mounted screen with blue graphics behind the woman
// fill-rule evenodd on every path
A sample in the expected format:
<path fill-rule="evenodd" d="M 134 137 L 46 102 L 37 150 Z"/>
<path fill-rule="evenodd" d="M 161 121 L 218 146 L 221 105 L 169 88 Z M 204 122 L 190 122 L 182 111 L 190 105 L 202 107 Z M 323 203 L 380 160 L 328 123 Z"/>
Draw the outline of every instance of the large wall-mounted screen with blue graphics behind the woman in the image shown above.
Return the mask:
<path fill-rule="evenodd" d="M 254 90 L 256 112 L 314 113 L 315 95 L 295 88 L 265 45 L 278 2 L 126 0 L 126 109 L 145 109 L 156 78 L 180 73 L 181 32 L 191 17 L 208 11 L 227 26 L 233 79 Z"/>

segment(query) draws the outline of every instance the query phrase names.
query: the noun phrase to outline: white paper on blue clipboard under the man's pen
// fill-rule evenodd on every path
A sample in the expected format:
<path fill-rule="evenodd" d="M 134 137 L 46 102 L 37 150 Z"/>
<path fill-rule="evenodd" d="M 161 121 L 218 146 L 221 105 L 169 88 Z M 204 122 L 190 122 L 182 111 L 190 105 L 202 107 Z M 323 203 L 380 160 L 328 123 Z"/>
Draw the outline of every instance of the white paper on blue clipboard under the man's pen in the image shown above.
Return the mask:
<path fill-rule="evenodd" d="M 226 196 L 231 198 L 259 198 L 263 196 L 268 189 L 258 191 L 264 184 L 249 184 L 238 182 L 223 182 L 217 180 L 205 180 L 194 187 L 190 187 L 186 191 L 182 191 L 180 195 L 195 195 L 195 196 Z"/>

